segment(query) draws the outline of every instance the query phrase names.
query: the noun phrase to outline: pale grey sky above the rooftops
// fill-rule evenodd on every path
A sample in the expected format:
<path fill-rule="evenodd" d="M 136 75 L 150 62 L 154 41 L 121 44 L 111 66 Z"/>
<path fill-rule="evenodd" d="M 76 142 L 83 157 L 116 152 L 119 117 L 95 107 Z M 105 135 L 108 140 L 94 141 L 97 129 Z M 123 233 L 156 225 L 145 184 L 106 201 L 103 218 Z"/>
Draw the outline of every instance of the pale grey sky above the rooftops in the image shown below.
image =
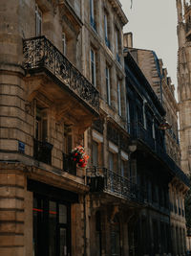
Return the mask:
<path fill-rule="evenodd" d="M 177 87 L 176 0 L 120 0 L 129 22 L 124 32 L 133 33 L 133 46 L 149 49 L 162 58 L 163 67 Z"/>

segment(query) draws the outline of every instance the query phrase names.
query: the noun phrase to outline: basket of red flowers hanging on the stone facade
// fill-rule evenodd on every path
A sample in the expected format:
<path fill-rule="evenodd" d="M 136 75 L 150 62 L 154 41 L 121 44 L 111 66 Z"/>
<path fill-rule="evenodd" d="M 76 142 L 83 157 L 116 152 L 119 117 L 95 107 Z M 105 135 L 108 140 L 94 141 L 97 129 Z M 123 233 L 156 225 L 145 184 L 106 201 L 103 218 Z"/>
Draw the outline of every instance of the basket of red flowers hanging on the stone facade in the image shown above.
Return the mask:
<path fill-rule="evenodd" d="M 82 146 L 77 146 L 71 152 L 72 160 L 78 165 L 78 167 L 84 168 L 87 165 L 89 155 L 87 155 Z"/>

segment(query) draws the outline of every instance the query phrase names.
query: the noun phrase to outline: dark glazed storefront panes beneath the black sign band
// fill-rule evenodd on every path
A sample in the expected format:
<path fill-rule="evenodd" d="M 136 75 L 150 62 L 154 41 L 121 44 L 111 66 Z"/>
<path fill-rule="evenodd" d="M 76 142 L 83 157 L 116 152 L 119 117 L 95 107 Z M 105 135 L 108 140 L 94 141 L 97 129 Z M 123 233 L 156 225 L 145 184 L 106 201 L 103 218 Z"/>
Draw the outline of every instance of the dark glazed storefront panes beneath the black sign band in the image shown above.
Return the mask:
<path fill-rule="evenodd" d="M 33 256 L 71 256 L 70 204 L 34 195 Z"/>

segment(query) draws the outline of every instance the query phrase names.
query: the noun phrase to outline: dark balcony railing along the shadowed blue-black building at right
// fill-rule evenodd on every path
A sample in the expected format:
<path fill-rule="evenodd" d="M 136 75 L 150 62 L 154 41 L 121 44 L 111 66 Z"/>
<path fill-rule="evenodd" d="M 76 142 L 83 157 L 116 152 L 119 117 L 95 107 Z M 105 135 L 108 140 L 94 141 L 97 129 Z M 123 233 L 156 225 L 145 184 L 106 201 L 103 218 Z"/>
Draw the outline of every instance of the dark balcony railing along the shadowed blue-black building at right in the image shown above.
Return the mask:
<path fill-rule="evenodd" d="M 187 175 L 185 175 L 175 161 L 166 153 L 164 146 L 159 140 L 153 138 L 151 132 L 148 129 L 143 128 L 139 123 L 131 123 L 130 134 L 134 139 L 138 139 L 143 142 L 151 151 L 154 151 L 161 161 L 163 161 L 174 175 L 177 175 L 180 180 L 187 186 L 190 186 L 190 181 Z"/>

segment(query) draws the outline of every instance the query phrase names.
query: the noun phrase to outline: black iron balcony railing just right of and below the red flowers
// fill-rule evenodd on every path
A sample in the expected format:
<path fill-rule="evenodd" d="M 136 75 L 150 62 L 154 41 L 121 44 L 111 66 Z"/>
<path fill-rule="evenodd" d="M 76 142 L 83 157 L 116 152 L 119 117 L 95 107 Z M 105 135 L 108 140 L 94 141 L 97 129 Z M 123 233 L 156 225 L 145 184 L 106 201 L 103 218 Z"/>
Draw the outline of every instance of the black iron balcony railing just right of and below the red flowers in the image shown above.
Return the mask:
<path fill-rule="evenodd" d="M 144 202 L 145 191 L 128 178 L 106 168 L 87 169 L 88 185 L 91 192 L 107 192 L 116 197 Z"/>

